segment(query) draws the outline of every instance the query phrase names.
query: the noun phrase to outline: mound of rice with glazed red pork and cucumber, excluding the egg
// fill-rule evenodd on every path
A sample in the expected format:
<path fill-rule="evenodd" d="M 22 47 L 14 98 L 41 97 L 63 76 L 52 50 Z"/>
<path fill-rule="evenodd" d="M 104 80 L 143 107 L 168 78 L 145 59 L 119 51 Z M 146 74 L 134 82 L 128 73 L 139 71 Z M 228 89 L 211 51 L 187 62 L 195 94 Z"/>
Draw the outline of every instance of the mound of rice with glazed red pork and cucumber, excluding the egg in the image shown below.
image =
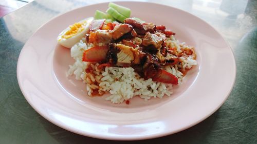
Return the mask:
<path fill-rule="evenodd" d="M 113 3 L 110 8 L 130 16 L 130 9 Z M 134 96 L 145 100 L 170 96 L 172 85 L 181 84 L 197 65 L 194 48 L 179 43 L 163 25 L 129 17 L 106 21 L 106 16 L 121 20 L 116 12 L 108 14 L 97 11 L 95 17 L 103 19 L 87 23 L 88 31 L 70 50 L 75 63 L 68 74 L 86 83 L 89 96 L 110 93 L 106 100 L 117 104 L 129 104 Z"/>

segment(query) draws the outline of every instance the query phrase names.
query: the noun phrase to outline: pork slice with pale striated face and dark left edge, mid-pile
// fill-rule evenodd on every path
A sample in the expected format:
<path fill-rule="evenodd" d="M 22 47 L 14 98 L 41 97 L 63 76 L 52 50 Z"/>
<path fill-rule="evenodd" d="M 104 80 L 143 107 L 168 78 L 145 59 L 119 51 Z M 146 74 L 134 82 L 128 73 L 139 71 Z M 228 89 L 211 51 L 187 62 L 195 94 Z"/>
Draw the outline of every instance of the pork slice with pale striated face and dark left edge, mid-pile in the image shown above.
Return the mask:
<path fill-rule="evenodd" d="M 109 44 L 110 62 L 117 66 L 129 67 L 131 64 L 140 64 L 139 51 L 122 44 Z"/>

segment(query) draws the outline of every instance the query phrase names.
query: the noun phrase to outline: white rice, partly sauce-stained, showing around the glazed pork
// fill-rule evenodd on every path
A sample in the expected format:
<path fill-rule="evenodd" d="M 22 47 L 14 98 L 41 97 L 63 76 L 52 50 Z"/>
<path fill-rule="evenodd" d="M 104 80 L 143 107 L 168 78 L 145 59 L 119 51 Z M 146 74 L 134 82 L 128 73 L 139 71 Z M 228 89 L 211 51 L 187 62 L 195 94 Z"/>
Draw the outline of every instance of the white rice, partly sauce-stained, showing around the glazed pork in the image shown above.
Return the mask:
<path fill-rule="evenodd" d="M 177 52 L 181 51 L 179 42 L 171 37 L 167 40 L 167 45 L 177 48 Z M 182 44 L 183 45 L 183 44 Z M 68 75 L 75 75 L 76 79 L 83 80 L 86 83 L 86 90 L 88 95 L 91 95 L 94 90 L 98 90 L 98 94 L 110 93 L 106 100 L 119 104 L 124 100 L 139 96 L 144 100 L 152 97 L 162 98 L 164 95 L 171 96 L 172 85 L 153 81 L 151 78 L 144 80 L 134 71 L 133 68 L 118 68 L 105 67 L 104 70 L 98 70 L 99 64 L 90 64 L 82 61 L 84 50 L 92 47 L 87 46 L 82 39 L 78 44 L 71 48 L 71 57 L 75 59 L 75 63 L 69 66 Z M 178 71 L 178 68 L 190 69 L 197 65 L 197 61 L 193 57 L 180 57 L 182 61 L 180 64 L 163 67 L 167 72 L 172 73 L 178 77 L 179 84 L 182 81 L 183 74 Z M 91 67 L 93 73 L 86 73 L 85 69 Z"/>

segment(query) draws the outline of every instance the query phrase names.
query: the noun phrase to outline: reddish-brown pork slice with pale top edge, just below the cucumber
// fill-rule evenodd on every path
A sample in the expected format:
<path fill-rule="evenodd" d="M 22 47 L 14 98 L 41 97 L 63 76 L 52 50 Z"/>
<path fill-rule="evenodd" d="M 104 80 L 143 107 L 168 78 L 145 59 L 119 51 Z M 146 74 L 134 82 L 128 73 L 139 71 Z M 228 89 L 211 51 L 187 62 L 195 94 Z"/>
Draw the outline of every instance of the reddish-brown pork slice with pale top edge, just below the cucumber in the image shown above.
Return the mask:
<path fill-rule="evenodd" d="M 131 32 L 133 27 L 128 24 L 120 24 L 114 27 L 114 30 L 111 32 L 114 40 L 120 38 L 122 35 Z"/>

